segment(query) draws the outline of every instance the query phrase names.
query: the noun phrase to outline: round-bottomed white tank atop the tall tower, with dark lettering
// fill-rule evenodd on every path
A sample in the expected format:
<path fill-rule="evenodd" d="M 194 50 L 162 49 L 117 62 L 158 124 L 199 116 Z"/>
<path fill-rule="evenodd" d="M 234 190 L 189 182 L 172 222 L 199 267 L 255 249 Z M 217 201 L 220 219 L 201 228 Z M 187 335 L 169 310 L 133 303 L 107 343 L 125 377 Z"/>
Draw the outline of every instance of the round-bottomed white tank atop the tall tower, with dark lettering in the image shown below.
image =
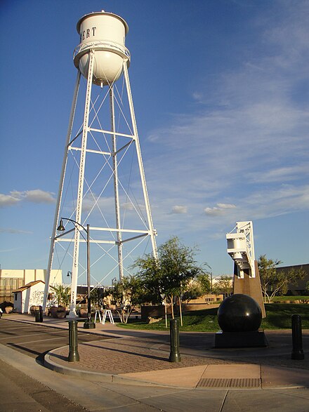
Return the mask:
<path fill-rule="evenodd" d="M 77 22 L 80 44 L 74 51 L 74 65 L 84 77 L 88 76 L 89 53 L 94 51 L 93 83 L 99 86 L 117 81 L 124 60 L 129 66 L 130 53 L 125 38 L 129 27 L 113 13 L 99 11 L 86 14 Z"/>

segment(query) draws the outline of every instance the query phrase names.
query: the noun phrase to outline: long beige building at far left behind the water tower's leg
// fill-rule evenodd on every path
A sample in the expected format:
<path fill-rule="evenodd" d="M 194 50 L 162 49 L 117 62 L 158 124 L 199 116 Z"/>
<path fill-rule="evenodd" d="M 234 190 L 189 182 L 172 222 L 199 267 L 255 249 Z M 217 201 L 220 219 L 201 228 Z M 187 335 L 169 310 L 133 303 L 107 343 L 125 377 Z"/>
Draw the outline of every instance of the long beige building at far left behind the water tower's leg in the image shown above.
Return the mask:
<path fill-rule="evenodd" d="M 44 281 L 46 269 L 1 269 L 0 270 L 0 303 L 14 302 L 13 291 L 32 281 Z M 63 283 L 62 270 L 51 270 L 51 286 Z"/>

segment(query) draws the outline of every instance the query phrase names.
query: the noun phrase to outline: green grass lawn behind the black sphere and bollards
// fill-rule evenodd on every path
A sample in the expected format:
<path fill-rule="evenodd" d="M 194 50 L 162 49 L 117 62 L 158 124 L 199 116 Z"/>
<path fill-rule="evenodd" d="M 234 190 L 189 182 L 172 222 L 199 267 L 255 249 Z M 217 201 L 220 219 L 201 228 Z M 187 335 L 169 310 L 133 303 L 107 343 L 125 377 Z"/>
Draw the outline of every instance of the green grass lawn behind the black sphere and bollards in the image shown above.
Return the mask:
<path fill-rule="evenodd" d="M 180 331 L 191 332 L 216 332 L 220 329 L 217 321 L 217 308 L 195 310 L 183 314 L 183 326 Z M 309 329 L 309 305 L 294 303 L 270 303 L 265 304 L 267 317 L 262 320 L 263 329 L 287 329 L 291 328 L 292 314 L 301 316 L 303 329 Z M 166 331 L 165 320 L 155 324 L 147 324 L 143 321 L 132 319 L 129 324 L 119 324 L 121 328 L 147 329 Z M 169 326 L 169 324 L 168 324 Z"/>

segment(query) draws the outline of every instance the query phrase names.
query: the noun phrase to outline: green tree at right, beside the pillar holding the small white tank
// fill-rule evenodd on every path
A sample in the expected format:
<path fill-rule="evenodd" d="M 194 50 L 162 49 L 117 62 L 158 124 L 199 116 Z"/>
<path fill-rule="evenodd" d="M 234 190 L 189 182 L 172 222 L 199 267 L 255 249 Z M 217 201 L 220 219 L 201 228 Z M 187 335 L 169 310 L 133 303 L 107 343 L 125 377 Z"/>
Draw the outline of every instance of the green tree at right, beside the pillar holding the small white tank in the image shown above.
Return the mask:
<path fill-rule="evenodd" d="M 289 284 L 296 284 L 305 277 L 303 269 L 294 269 L 288 272 L 277 269 L 280 260 L 272 260 L 261 255 L 258 258 L 258 271 L 260 273 L 264 301 L 270 303 L 275 295 L 287 293 Z"/>

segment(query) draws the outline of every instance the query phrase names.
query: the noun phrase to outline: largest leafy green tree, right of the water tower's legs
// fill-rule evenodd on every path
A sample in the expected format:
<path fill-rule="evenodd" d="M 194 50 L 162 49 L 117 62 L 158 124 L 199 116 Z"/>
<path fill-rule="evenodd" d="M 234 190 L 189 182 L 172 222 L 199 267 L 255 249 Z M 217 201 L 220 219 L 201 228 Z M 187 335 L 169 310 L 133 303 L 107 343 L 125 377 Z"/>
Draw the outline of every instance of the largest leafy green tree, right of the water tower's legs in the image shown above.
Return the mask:
<path fill-rule="evenodd" d="M 171 237 L 159 246 L 158 259 L 153 255 L 138 258 L 133 264 L 137 276 L 145 288 L 145 299 L 152 304 L 169 303 L 172 317 L 175 299 L 187 291 L 190 281 L 204 274 L 197 265 L 197 248 L 180 243 L 178 237 Z"/>

